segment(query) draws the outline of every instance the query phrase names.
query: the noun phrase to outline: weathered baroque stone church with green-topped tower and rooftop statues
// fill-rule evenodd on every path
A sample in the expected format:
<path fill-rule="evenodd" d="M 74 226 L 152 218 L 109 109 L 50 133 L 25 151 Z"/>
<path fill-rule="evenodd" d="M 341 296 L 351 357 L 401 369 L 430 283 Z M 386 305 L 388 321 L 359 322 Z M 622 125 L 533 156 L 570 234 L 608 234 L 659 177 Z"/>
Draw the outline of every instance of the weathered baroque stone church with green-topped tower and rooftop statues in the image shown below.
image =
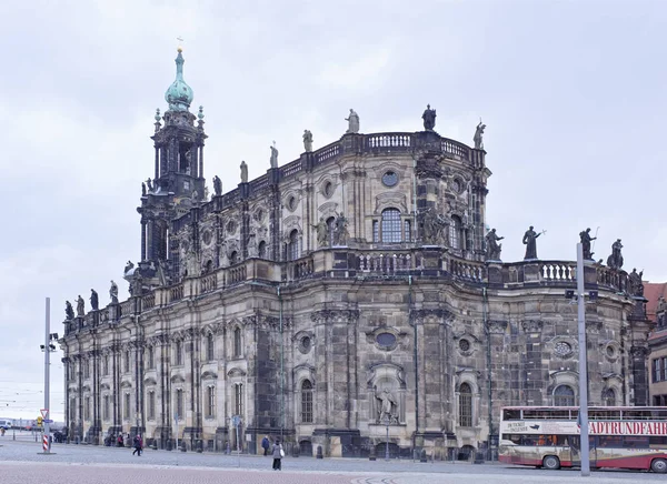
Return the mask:
<path fill-rule="evenodd" d="M 435 131 L 430 107 L 422 131 L 371 134 L 350 110 L 340 139 L 312 150 L 306 131 L 298 159 L 280 165 L 272 147 L 266 174 L 242 163 L 209 196 L 180 50 L 176 65 L 131 295 L 112 283 L 103 307 L 68 302 L 71 438 L 256 453 L 268 435 L 326 456 L 388 438 L 392 455 L 450 458 L 492 455 L 504 405 L 578 402 L 576 262 L 538 259 L 532 231 L 527 259 L 501 262 L 481 123 L 470 148 Z M 611 265 L 585 268 L 589 402 L 644 405 L 649 323 Z"/>

